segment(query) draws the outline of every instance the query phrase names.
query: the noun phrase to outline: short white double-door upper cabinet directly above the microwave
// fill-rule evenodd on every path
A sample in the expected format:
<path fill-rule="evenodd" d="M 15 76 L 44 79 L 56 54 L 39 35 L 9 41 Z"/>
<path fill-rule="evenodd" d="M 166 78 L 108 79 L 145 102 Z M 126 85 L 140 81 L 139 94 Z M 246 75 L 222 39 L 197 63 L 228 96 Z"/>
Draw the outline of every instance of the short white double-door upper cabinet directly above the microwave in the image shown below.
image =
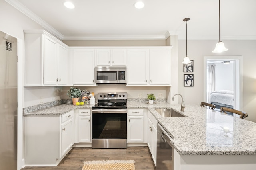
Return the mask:
<path fill-rule="evenodd" d="M 126 49 L 97 49 L 97 66 L 126 66 Z"/>

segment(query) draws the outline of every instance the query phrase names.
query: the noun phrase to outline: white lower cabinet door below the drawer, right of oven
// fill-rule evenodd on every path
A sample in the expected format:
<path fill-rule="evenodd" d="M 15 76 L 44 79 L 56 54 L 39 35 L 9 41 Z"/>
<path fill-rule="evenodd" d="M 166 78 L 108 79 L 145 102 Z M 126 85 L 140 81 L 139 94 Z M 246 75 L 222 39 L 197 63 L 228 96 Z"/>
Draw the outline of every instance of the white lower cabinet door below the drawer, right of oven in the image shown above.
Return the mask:
<path fill-rule="evenodd" d="M 143 142 L 143 116 L 128 116 L 128 142 Z"/>

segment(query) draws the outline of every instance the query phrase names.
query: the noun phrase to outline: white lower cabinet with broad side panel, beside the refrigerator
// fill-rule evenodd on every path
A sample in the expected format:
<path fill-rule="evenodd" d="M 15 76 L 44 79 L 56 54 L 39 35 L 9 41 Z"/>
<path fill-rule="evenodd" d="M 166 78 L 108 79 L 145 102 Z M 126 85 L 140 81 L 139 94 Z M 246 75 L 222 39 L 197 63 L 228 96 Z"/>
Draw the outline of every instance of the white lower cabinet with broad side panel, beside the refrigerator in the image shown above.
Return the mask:
<path fill-rule="evenodd" d="M 26 165 L 57 165 L 74 143 L 74 111 L 64 115 L 26 116 Z"/>

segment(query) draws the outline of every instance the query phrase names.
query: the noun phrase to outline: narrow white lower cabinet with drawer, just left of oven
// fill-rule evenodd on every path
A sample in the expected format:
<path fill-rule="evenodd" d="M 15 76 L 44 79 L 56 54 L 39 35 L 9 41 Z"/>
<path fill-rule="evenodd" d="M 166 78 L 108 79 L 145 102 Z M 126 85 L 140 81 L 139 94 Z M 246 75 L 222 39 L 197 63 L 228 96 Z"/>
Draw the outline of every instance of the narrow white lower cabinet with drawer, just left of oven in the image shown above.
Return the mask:
<path fill-rule="evenodd" d="M 91 110 L 79 109 L 78 142 L 91 142 Z"/>

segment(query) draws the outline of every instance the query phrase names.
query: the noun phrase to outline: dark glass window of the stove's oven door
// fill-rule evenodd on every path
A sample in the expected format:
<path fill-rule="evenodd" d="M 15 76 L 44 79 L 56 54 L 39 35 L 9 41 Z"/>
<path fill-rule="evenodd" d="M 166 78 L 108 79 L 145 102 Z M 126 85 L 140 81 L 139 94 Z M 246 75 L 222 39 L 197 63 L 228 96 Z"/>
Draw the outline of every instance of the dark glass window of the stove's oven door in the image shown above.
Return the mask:
<path fill-rule="evenodd" d="M 92 139 L 126 139 L 126 113 L 92 114 Z"/>

